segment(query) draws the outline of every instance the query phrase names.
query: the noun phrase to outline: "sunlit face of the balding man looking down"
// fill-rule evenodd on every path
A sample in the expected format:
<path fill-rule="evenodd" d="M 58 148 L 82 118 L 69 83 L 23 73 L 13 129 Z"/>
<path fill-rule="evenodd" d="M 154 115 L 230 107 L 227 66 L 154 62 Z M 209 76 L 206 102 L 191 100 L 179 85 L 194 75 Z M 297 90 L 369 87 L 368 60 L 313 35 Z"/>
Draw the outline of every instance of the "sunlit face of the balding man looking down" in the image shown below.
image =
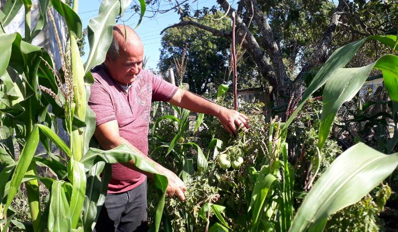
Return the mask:
<path fill-rule="evenodd" d="M 106 57 L 106 69 L 117 82 L 124 85 L 131 84 L 142 70 L 144 49 L 140 45 L 127 43 L 126 50 L 121 46 L 119 51 L 120 55 L 115 60 Z"/>

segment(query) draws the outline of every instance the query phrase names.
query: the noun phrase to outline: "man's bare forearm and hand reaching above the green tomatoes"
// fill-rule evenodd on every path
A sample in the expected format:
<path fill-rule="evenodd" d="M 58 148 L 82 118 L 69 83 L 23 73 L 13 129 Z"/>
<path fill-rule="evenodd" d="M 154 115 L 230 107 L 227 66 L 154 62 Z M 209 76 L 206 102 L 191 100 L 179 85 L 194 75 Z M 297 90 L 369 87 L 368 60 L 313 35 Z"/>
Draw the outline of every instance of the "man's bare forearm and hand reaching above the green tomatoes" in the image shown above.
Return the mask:
<path fill-rule="evenodd" d="M 169 103 L 187 110 L 216 116 L 220 119 L 224 128 L 232 135 L 236 134 L 239 127 L 248 129 L 249 118 L 237 111 L 226 109 L 209 100 L 193 94 L 189 91 L 178 89 Z"/>

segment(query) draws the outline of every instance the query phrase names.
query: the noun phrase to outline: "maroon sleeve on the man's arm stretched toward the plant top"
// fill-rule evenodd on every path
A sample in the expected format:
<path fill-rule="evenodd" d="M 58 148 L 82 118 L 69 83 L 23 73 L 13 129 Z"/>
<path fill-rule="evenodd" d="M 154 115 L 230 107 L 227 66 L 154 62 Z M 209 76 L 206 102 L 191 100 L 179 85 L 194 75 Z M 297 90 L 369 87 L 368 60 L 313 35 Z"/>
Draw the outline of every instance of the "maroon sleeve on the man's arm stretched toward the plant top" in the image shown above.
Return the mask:
<path fill-rule="evenodd" d="M 150 72 L 148 73 L 149 80 L 152 79 L 152 102 L 167 102 L 172 99 L 178 87 Z"/>

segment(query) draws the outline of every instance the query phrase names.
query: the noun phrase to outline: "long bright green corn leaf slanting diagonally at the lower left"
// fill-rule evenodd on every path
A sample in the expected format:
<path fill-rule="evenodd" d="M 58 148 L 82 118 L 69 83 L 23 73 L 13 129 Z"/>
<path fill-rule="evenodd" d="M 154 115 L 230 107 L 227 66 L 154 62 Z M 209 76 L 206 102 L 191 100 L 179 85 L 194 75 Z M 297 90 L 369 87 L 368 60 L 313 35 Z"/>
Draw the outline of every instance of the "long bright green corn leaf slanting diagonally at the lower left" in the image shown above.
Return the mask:
<path fill-rule="evenodd" d="M 26 144 L 23 147 L 18 162 L 16 164 L 15 171 L 14 174 L 12 175 L 10 182 L 7 201 L 4 207 L 5 209 L 8 209 L 8 206 L 11 205 L 11 202 L 16 195 L 16 191 L 19 185 L 21 184 L 22 178 L 25 175 L 25 172 L 28 170 L 28 167 L 34 156 L 38 143 L 39 143 L 39 129 L 36 125 L 33 127 L 32 132 L 30 133 L 28 139 L 26 140 Z"/>

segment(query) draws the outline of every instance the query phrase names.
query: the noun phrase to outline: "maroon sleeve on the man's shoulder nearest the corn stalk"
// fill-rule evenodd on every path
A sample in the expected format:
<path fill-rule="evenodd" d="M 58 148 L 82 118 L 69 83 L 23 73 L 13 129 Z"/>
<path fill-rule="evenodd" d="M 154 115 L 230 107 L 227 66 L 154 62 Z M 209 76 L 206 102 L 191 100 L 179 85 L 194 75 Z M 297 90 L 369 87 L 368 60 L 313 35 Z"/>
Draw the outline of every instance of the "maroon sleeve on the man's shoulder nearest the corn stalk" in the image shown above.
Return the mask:
<path fill-rule="evenodd" d="M 91 86 L 90 90 L 89 106 L 96 113 L 96 126 L 116 120 L 112 100 L 105 87 L 95 79 L 94 85 Z"/>

